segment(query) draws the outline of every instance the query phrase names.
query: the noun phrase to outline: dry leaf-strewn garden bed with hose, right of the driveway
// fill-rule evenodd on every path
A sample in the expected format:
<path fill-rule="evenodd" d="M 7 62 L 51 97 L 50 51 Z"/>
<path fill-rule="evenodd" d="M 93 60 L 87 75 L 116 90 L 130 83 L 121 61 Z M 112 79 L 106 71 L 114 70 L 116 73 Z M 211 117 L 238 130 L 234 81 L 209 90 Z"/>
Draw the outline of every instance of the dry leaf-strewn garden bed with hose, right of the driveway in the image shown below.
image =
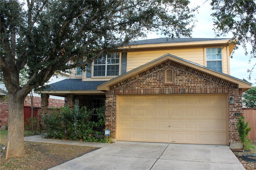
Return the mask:
<path fill-rule="evenodd" d="M 254 148 L 256 148 L 256 144 L 252 145 Z M 256 163 L 253 162 L 248 162 L 248 161 L 244 161 L 241 157 L 243 154 L 247 154 L 247 155 L 255 155 L 256 154 L 256 149 L 252 149 L 249 152 L 235 152 L 239 149 L 232 149 L 232 152 L 234 153 L 234 155 L 236 155 L 236 157 L 238 158 L 238 160 L 241 162 L 241 164 L 243 165 L 244 168 L 246 168 L 247 170 L 255 170 L 256 169 Z"/>

